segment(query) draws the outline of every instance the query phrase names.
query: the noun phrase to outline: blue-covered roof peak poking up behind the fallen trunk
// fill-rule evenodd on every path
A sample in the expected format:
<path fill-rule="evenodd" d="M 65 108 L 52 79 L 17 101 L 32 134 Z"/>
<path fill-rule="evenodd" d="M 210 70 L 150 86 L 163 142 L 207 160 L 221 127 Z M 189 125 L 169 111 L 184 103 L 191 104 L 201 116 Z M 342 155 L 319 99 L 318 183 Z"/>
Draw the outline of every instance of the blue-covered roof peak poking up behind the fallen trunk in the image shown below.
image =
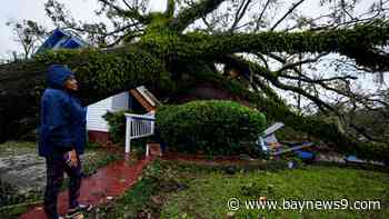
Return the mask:
<path fill-rule="evenodd" d="M 77 49 L 86 46 L 87 43 L 77 36 L 57 28 L 54 31 L 52 31 L 51 36 L 44 41 L 44 43 L 38 49 L 36 54 L 41 53 L 48 49 Z"/>

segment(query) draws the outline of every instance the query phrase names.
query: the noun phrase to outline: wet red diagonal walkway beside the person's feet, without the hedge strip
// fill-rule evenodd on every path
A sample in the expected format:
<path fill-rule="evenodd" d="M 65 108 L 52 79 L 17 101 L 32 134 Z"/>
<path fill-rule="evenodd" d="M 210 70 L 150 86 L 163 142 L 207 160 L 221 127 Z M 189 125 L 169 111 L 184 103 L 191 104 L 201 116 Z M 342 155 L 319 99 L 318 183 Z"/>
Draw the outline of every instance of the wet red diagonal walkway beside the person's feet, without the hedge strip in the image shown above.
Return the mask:
<path fill-rule="evenodd" d="M 153 158 L 153 156 L 150 156 L 133 165 L 120 160 L 99 169 L 97 173 L 82 180 L 79 201 L 81 203 L 92 203 L 96 206 L 122 195 L 137 182 L 142 169 L 150 163 Z M 68 208 L 68 191 L 62 191 L 59 195 L 58 206 L 59 213 L 64 215 Z M 44 218 L 44 211 L 41 206 L 34 207 L 20 217 L 20 219 Z"/>

